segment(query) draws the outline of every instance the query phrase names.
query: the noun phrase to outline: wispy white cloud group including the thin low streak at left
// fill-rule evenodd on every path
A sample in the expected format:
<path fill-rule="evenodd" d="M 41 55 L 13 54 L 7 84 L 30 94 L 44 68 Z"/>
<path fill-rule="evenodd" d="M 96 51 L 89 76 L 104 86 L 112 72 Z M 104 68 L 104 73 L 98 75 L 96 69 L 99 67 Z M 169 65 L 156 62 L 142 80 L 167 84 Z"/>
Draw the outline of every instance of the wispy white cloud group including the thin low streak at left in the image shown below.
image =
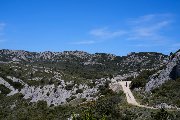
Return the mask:
<path fill-rule="evenodd" d="M 148 14 L 137 18 L 128 19 L 123 28 L 112 29 L 109 27 L 102 27 L 99 29 L 92 29 L 89 31 L 89 37 L 94 40 L 79 41 L 73 44 L 95 44 L 97 42 L 105 42 L 118 38 L 119 40 L 130 41 L 133 40 L 134 46 L 149 47 L 165 45 L 169 41 L 166 29 L 173 22 L 172 14 Z M 123 24 L 123 23 L 122 23 Z M 143 41 L 143 44 L 141 44 Z"/>

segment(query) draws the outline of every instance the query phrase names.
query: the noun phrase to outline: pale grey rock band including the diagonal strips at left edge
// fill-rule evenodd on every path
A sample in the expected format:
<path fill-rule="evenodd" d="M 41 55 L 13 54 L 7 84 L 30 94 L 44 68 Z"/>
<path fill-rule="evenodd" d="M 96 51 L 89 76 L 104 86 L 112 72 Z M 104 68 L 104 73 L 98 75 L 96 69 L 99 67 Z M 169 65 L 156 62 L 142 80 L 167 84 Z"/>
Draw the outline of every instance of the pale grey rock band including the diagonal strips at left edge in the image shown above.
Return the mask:
<path fill-rule="evenodd" d="M 31 102 L 37 102 L 39 100 L 46 101 L 48 106 L 53 104 L 54 106 L 64 104 L 68 102 L 68 99 L 81 99 L 85 98 L 88 100 L 95 100 L 98 96 L 96 94 L 99 92 L 98 87 L 103 85 L 106 81 L 105 79 L 98 79 L 96 80 L 96 85 L 94 87 L 89 87 L 86 84 L 75 84 L 73 85 L 72 89 L 66 89 L 67 85 L 73 83 L 73 81 L 65 82 L 64 80 L 61 81 L 61 85 L 55 86 L 52 85 L 45 85 L 45 86 L 29 86 L 28 84 L 24 83 L 22 80 L 17 79 L 15 77 L 7 76 L 8 79 L 11 79 L 13 82 L 21 83 L 24 87 L 18 91 L 12 85 L 10 85 L 6 80 L 0 77 L 0 84 L 7 87 L 11 92 L 7 94 L 7 96 L 14 95 L 16 93 L 22 93 L 24 95 L 24 99 L 30 99 Z M 82 92 L 77 92 L 77 90 L 82 90 Z M 0 91 L 1 93 L 1 91 Z"/>

